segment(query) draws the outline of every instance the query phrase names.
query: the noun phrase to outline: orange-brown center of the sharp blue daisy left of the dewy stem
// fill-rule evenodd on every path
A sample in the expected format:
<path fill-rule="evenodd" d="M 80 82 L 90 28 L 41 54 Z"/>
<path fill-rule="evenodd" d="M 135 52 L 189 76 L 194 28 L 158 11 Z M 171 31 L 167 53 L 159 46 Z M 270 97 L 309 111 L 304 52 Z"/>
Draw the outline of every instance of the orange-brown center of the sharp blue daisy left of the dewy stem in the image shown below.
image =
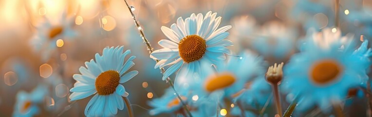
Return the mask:
<path fill-rule="evenodd" d="M 112 94 L 119 85 L 120 75 L 118 72 L 109 70 L 101 73 L 95 80 L 95 89 L 99 95 Z"/>

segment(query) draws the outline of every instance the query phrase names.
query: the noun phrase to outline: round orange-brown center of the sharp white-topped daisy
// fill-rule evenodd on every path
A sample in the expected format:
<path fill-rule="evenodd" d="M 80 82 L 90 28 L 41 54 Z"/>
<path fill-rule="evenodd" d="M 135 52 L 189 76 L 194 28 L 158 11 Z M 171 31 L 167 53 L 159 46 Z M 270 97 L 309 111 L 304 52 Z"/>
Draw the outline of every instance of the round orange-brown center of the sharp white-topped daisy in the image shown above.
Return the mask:
<path fill-rule="evenodd" d="M 205 40 L 197 35 L 186 36 L 181 39 L 178 50 L 185 62 L 201 59 L 205 53 Z"/>

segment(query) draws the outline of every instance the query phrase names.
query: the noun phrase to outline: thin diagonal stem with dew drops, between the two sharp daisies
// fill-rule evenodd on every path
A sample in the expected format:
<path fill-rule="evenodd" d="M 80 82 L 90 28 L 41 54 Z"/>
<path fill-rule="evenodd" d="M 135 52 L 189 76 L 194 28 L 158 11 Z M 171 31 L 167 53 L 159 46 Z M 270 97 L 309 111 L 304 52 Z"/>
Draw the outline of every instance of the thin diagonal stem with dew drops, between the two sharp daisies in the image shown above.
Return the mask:
<path fill-rule="evenodd" d="M 141 25 L 140 25 L 140 24 L 138 23 L 138 21 L 136 20 L 136 17 L 134 16 L 133 11 L 130 9 L 130 6 L 129 6 L 127 0 L 124 0 L 124 1 L 125 1 L 125 4 L 126 4 L 127 7 L 128 7 L 128 10 L 130 11 L 130 14 L 131 14 L 131 16 L 132 16 L 132 18 L 133 18 L 133 21 L 134 21 L 134 23 L 135 23 L 135 25 L 136 25 L 136 27 L 137 27 L 139 33 L 140 33 L 140 36 L 142 37 L 143 41 L 144 41 L 145 44 L 146 44 L 146 47 L 147 47 L 148 50 L 149 50 L 149 53 L 152 53 L 152 52 L 153 52 L 153 48 L 151 47 L 151 44 L 149 43 L 149 40 L 146 39 L 145 33 L 144 33 L 144 31 L 143 31 Z M 157 59 L 154 59 L 154 60 L 156 61 L 156 63 L 159 62 L 159 60 L 157 60 Z M 161 68 L 160 70 L 161 70 L 162 74 L 164 74 L 164 72 L 166 71 L 164 68 Z M 188 114 L 190 117 L 192 117 L 190 111 L 187 109 L 186 103 L 182 100 L 181 96 L 177 93 L 176 89 L 174 88 L 174 84 L 173 84 L 172 80 L 171 80 L 169 77 L 167 78 L 167 83 L 168 83 L 168 84 L 173 88 L 174 92 L 175 92 L 176 95 L 177 95 L 177 98 L 180 99 L 180 101 L 181 101 L 181 103 L 182 103 L 182 105 L 183 105 L 182 107 L 186 110 L 187 114 Z"/>

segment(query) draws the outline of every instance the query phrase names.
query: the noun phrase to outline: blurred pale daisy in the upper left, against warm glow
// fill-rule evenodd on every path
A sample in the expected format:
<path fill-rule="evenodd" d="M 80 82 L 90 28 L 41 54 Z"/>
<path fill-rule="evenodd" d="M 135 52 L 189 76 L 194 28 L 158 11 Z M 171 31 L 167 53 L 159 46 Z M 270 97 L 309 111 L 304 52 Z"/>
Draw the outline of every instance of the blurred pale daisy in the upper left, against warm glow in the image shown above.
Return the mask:
<path fill-rule="evenodd" d="M 64 11 L 58 22 L 54 23 L 45 18 L 44 22 L 36 27 L 37 32 L 30 40 L 30 44 L 35 52 L 41 54 L 42 60 L 48 60 L 51 53 L 56 50 L 57 39 L 64 40 L 76 37 L 76 32 L 72 29 L 74 17 L 66 17 L 66 11 Z"/>

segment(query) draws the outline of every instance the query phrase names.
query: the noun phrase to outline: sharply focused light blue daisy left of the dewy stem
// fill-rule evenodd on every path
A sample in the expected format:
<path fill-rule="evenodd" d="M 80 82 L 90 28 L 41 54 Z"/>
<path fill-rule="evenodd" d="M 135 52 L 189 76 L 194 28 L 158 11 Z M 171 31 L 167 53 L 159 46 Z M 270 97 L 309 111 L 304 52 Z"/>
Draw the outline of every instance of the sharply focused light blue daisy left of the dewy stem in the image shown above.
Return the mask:
<path fill-rule="evenodd" d="M 72 101 L 95 94 L 85 108 L 86 116 L 107 117 L 115 115 L 117 109 L 123 110 L 122 97 L 128 97 L 129 94 L 121 83 L 127 82 L 138 74 L 138 71 L 126 73 L 134 65 L 132 60 L 135 56 L 131 56 L 124 63 L 130 50 L 123 53 L 123 48 L 123 46 L 106 47 L 103 49 L 102 56 L 97 53 L 95 61 L 92 59 L 90 62 L 85 62 L 88 69 L 80 67 L 81 74 L 73 76 L 76 83 L 70 90 L 73 92 L 70 95 Z"/>

